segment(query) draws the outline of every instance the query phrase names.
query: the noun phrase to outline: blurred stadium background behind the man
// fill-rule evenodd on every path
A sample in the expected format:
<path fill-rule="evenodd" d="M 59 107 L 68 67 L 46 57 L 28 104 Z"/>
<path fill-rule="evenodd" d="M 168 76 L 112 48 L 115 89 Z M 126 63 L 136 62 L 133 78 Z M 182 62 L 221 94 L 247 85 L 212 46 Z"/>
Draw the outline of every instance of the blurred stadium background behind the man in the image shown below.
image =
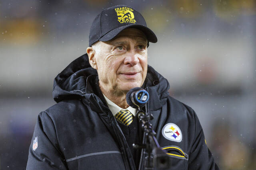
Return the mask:
<path fill-rule="evenodd" d="M 223 170 L 256 167 L 256 0 L 0 0 L 0 170 L 25 169 L 54 77 L 86 53 L 103 8 L 125 4 L 156 33 L 148 63 L 191 106 Z"/>

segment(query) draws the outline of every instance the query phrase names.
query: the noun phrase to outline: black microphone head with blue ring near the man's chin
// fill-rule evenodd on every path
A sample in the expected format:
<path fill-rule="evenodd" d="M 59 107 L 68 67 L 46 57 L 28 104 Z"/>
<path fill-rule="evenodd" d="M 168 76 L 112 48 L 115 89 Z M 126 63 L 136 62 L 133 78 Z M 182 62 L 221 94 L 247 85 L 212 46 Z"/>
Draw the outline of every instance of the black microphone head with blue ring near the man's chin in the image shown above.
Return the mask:
<path fill-rule="evenodd" d="M 146 90 L 140 87 L 135 87 L 129 90 L 126 94 L 126 102 L 132 108 L 137 109 L 145 106 L 148 102 L 149 94 Z"/>

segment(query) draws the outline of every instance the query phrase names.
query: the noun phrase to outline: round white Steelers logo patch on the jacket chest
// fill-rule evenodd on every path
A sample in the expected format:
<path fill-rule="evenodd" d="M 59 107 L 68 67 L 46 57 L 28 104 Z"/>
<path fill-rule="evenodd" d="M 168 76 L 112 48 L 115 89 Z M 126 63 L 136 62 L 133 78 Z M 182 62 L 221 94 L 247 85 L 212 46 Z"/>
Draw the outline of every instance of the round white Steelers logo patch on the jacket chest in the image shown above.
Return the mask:
<path fill-rule="evenodd" d="M 181 142 L 182 140 L 180 128 L 174 123 L 167 123 L 162 129 L 162 135 L 170 141 Z"/>

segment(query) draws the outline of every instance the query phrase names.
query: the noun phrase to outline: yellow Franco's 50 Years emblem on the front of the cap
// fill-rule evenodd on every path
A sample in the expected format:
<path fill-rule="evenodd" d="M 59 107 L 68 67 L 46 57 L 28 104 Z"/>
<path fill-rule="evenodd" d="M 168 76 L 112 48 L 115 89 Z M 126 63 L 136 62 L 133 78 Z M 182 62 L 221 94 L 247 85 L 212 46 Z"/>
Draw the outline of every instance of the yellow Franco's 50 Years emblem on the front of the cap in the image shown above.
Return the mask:
<path fill-rule="evenodd" d="M 136 23 L 134 20 L 134 11 L 132 8 L 129 7 L 122 7 L 122 8 L 115 8 L 116 14 L 118 16 L 118 21 L 120 23 Z"/>

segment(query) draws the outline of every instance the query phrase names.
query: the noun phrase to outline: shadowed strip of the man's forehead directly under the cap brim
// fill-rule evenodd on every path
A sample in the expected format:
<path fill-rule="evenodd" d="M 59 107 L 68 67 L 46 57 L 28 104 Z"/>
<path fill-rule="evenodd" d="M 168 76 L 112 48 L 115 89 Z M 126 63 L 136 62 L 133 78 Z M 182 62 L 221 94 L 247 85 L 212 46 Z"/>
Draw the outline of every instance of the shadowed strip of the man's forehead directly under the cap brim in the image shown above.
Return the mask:
<path fill-rule="evenodd" d="M 136 29 L 136 28 L 124 29 L 110 41 L 116 41 L 121 37 L 129 37 L 129 38 L 135 39 L 136 41 L 145 41 L 146 43 L 148 42 L 146 35 L 142 31 L 140 31 L 140 29 Z"/>

